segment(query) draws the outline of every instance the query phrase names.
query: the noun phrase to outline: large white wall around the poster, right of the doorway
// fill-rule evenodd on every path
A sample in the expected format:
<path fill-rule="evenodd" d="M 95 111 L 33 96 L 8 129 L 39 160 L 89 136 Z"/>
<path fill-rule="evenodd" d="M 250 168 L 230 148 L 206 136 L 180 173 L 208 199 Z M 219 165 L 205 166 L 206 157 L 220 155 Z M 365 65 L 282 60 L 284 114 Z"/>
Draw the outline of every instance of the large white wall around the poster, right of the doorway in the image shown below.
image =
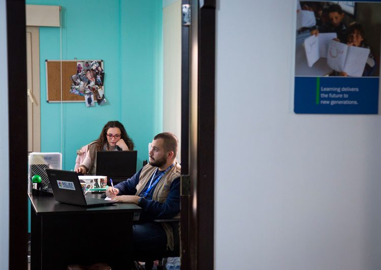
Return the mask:
<path fill-rule="evenodd" d="M 293 112 L 291 0 L 217 1 L 216 269 L 381 269 L 381 118 Z"/>

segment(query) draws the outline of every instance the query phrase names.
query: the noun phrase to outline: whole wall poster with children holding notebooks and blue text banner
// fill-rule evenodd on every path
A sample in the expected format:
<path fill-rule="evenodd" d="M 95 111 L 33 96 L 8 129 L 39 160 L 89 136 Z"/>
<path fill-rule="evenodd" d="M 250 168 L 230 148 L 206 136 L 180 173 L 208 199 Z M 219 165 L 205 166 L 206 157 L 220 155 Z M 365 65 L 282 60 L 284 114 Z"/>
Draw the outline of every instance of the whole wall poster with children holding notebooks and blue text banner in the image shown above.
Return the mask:
<path fill-rule="evenodd" d="M 294 112 L 377 114 L 381 0 L 298 1 L 296 12 Z"/>

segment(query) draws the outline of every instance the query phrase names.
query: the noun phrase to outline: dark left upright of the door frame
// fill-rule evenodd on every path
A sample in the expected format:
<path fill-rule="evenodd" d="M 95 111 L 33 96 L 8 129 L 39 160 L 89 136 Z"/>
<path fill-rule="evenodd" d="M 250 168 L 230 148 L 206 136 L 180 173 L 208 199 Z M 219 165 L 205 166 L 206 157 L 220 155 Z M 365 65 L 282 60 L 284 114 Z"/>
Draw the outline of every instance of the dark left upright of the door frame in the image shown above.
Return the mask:
<path fill-rule="evenodd" d="M 6 0 L 9 120 L 9 269 L 27 269 L 25 1 Z M 17 18 L 15 20 L 15 18 Z"/>

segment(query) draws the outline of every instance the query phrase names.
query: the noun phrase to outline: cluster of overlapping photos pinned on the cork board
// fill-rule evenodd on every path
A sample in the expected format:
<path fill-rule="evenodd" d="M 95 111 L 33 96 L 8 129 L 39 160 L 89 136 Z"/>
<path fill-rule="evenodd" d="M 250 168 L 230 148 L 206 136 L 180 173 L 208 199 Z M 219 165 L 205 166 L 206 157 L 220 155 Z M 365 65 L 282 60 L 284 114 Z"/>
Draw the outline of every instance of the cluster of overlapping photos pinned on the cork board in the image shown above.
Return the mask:
<path fill-rule="evenodd" d="M 70 93 L 83 96 L 86 107 L 95 106 L 107 102 L 104 95 L 105 72 L 101 64 L 96 60 L 77 62 L 77 73 L 70 77 L 73 82 Z M 96 99 L 94 99 L 96 97 Z"/>

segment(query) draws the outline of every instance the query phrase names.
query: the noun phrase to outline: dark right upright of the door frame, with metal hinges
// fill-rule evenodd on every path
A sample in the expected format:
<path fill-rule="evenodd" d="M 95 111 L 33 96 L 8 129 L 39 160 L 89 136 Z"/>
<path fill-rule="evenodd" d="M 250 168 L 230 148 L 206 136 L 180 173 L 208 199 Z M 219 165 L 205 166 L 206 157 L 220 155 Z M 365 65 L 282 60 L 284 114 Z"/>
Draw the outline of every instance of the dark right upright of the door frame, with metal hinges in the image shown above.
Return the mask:
<path fill-rule="evenodd" d="M 188 55 L 182 50 L 181 170 L 189 175 L 189 187 L 181 181 L 182 270 L 214 268 L 216 3 L 189 1 L 190 31 L 182 28 L 182 34 L 189 35 L 189 44 L 182 45 L 189 48 Z"/>

